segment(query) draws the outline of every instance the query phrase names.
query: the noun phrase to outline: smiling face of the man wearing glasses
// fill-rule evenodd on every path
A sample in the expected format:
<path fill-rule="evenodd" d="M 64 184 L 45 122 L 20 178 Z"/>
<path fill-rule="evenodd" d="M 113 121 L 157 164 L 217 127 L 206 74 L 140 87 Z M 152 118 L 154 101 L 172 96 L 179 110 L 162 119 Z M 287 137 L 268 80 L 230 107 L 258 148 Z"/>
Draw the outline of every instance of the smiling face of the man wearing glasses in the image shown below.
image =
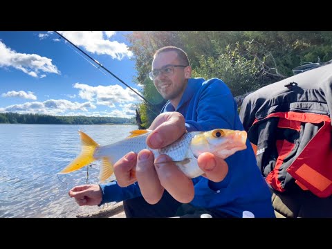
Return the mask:
<path fill-rule="evenodd" d="M 191 73 L 190 66 L 184 66 L 187 65 L 178 60 L 178 55 L 174 51 L 160 53 L 152 62 L 152 71 L 157 70 L 158 73 L 158 76 L 154 77 L 154 85 L 165 100 L 181 99 Z M 158 72 L 160 69 L 165 71 Z M 171 75 L 168 75 L 168 71 L 172 71 Z"/>

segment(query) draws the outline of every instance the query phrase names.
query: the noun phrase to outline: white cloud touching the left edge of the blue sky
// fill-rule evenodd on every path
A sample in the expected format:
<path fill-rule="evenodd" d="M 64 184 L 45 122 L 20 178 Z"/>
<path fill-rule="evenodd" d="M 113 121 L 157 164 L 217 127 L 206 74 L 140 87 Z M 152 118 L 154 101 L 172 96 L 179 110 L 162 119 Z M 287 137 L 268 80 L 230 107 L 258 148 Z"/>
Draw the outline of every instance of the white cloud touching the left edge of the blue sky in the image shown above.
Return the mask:
<path fill-rule="evenodd" d="M 33 77 L 39 77 L 39 72 L 59 74 L 52 59 L 36 54 L 17 53 L 0 41 L 0 67 L 12 66 Z M 45 77 L 42 74 L 40 77 Z"/>

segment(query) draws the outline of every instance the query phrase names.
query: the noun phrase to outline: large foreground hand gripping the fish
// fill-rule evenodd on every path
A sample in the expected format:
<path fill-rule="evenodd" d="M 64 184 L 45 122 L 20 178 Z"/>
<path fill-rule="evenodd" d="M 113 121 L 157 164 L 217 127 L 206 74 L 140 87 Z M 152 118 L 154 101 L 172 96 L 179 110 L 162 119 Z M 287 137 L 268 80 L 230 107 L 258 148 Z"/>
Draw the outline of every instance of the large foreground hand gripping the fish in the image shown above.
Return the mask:
<path fill-rule="evenodd" d="M 185 118 L 178 112 L 162 113 L 156 117 L 149 129 L 153 131 L 147 137 L 147 145 L 151 149 L 160 149 L 172 144 L 186 132 Z M 134 158 L 128 160 L 129 154 Z M 137 158 L 133 152 L 129 154 L 114 165 L 114 173 L 120 186 L 128 186 L 138 181 L 142 196 L 150 204 L 160 201 L 164 189 L 181 203 L 192 201 L 192 180 L 185 176 L 168 156 L 160 155 L 154 160 L 154 154 L 147 149 L 140 151 Z M 227 163 L 213 154 L 201 154 L 198 162 L 205 172 L 203 176 L 211 181 L 222 181 L 228 172 Z"/>

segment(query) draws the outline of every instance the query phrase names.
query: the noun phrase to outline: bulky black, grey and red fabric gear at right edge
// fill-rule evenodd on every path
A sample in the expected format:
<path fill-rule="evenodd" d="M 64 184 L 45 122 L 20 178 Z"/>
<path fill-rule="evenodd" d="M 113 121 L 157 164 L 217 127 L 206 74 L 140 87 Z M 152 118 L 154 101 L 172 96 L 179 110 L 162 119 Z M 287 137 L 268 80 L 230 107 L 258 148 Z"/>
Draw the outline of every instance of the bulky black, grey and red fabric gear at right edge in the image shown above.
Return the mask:
<path fill-rule="evenodd" d="M 332 194 L 332 64 L 248 95 L 240 111 L 257 165 L 274 190 Z"/>

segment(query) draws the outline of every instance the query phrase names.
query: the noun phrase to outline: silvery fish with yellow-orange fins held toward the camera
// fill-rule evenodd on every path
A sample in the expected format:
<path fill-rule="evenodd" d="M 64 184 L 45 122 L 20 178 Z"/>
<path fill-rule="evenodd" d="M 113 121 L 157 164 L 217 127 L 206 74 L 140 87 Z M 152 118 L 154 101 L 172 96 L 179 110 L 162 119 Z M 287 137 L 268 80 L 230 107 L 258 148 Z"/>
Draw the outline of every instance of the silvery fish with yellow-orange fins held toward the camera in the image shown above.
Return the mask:
<path fill-rule="evenodd" d="M 151 130 L 134 130 L 131 135 L 119 142 L 100 146 L 83 131 L 78 131 L 81 138 L 81 154 L 57 174 L 68 174 L 82 167 L 101 160 L 99 181 L 103 183 L 113 174 L 113 165 L 129 151 L 138 153 L 149 149 L 154 158 L 166 154 L 176 166 L 188 177 L 196 178 L 204 172 L 197 163 L 203 152 L 210 152 L 220 158 L 228 158 L 237 151 L 246 149 L 246 131 L 231 129 L 213 129 L 210 131 L 186 132 L 175 142 L 162 149 L 151 149 L 145 142 Z"/>

